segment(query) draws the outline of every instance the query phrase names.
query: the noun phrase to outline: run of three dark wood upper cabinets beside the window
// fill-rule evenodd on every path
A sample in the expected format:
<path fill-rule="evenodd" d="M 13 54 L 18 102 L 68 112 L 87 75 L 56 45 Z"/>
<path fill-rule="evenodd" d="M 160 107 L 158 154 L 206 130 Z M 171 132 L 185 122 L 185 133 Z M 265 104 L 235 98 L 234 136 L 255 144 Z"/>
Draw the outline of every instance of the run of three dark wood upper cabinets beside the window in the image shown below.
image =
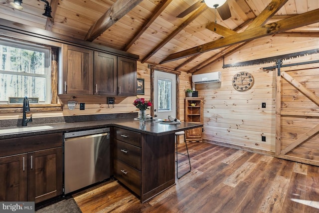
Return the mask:
<path fill-rule="evenodd" d="M 136 96 L 136 59 L 62 45 L 58 94 Z"/>

